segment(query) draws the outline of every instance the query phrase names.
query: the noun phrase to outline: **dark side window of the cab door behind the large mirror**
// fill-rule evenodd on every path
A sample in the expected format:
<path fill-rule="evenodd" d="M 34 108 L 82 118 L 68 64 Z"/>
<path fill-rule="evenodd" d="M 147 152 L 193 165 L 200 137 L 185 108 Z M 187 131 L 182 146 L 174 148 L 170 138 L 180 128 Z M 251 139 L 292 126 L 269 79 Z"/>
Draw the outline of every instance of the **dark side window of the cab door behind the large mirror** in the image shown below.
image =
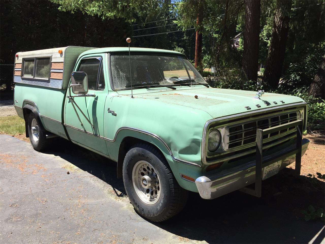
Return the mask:
<path fill-rule="evenodd" d="M 78 71 L 82 71 L 87 74 L 89 90 L 103 90 L 105 88 L 103 63 L 101 57 L 86 58 L 81 60 Z"/>

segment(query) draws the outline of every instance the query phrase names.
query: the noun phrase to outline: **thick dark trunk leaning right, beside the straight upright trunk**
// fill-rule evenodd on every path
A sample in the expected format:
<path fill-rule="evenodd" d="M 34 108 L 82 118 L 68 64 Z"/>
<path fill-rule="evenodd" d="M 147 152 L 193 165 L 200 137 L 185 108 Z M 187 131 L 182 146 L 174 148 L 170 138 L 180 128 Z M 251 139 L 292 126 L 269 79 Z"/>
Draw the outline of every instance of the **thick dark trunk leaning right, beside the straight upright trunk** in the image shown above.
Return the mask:
<path fill-rule="evenodd" d="M 278 0 L 274 16 L 272 39 L 268 49 L 264 81 L 277 88 L 282 74 L 285 48 L 287 45 L 291 0 Z"/>

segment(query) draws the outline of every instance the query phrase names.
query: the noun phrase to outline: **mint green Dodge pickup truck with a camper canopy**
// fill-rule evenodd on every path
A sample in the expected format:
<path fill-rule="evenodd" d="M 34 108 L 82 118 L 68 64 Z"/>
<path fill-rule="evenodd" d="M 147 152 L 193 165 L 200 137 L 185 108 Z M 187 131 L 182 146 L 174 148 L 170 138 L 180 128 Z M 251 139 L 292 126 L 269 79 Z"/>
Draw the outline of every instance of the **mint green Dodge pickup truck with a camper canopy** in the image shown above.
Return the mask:
<path fill-rule="evenodd" d="M 300 172 L 309 143 L 301 98 L 212 88 L 175 51 L 18 52 L 14 82 L 35 150 L 55 147 L 59 136 L 117 162 L 135 210 L 155 222 L 181 211 L 188 191 L 259 197 L 262 180 L 293 162 Z"/>

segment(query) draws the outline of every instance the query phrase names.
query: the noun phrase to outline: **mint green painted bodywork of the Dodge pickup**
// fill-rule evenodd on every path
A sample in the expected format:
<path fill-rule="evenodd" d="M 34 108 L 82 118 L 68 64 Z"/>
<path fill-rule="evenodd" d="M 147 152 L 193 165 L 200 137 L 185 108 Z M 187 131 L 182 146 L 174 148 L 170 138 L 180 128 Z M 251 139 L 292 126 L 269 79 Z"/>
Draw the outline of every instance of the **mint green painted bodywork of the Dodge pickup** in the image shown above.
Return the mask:
<path fill-rule="evenodd" d="M 285 104 L 303 102 L 298 97 L 274 93 L 265 93 L 262 100 L 253 99 L 256 91 L 206 88 L 201 85 L 179 86 L 176 90 L 169 88 L 134 89 L 134 98 L 131 98 L 131 90 L 113 91 L 110 87 L 108 52 L 122 51 L 128 51 L 128 48 L 109 47 L 87 50 L 79 56 L 74 65 L 74 71 L 76 71 L 82 58 L 103 57 L 105 89 L 103 91 L 89 90 L 88 94 L 95 94 L 95 97 L 75 98 L 75 102 L 94 124 L 94 129 L 76 108 L 83 123 L 81 126 L 72 104 L 66 98 L 66 89 L 16 84 L 14 99 L 18 100 L 18 103 L 15 105 L 23 107 L 26 103 L 24 101 L 29 100 L 36 104 L 40 115 L 53 118 L 61 123 L 63 123 L 62 117 L 64 117 L 64 123 L 79 129 L 66 127 L 68 135 L 74 143 L 114 161 L 118 160 L 119 147 L 125 137 L 134 137 L 149 142 L 161 150 L 177 182 L 185 189 L 198 192 L 195 183 L 181 179 L 180 173 L 194 179 L 206 174 L 205 167 L 201 162 L 201 142 L 203 128 L 207 121 L 263 108 L 276 108 L 283 105 L 280 101 L 284 101 Z M 181 55 L 175 51 L 150 48 L 131 48 L 131 51 Z M 195 95 L 198 96 L 198 99 L 195 99 Z M 263 101 L 269 102 L 270 105 L 267 106 Z M 277 102 L 277 104 L 273 102 Z M 256 104 L 261 107 L 256 107 Z M 246 110 L 246 106 L 251 109 Z M 20 111 L 19 108 L 16 109 Z M 108 109 L 114 111 L 116 116 L 108 113 Z M 62 124 L 41 119 L 47 130 L 64 137 L 65 132 Z M 122 127 L 136 128 L 155 134 L 167 144 L 173 156 L 202 165 L 202 167 L 177 162 L 172 158 L 166 146 L 157 138 L 129 129 L 119 131 Z"/>

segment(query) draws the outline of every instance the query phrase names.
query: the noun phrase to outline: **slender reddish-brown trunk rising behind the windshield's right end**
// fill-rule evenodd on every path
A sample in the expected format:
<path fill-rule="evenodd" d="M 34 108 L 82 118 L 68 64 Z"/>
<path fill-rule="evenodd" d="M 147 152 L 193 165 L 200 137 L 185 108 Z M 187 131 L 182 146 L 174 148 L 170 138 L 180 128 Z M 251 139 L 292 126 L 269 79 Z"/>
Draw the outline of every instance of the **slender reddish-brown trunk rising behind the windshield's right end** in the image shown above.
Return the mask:
<path fill-rule="evenodd" d="M 196 17 L 196 36 L 195 36 L 195 68 L 202 69 L 202 20 L 203 4 L 199 1 L 199 11 Z"/>

